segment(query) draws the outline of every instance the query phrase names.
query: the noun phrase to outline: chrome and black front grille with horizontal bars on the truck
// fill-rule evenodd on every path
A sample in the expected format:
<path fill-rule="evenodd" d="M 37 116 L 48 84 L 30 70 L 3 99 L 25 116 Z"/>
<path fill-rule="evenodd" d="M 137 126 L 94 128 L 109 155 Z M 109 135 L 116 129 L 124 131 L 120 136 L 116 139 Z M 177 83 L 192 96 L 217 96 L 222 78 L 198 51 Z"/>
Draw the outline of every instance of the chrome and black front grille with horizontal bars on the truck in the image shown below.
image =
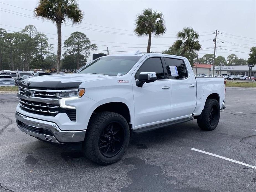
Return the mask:
<path fill-rule="evenodd" d="M 56 116 L 58 113 L 66 113 L 71 121 L 76 121 L 76 110 L 61 108 L 58 92 L 61 90 L 36 90 L 25 89 L 19 86 L 20 108 L 29 113 L 38 115 Z"/>

